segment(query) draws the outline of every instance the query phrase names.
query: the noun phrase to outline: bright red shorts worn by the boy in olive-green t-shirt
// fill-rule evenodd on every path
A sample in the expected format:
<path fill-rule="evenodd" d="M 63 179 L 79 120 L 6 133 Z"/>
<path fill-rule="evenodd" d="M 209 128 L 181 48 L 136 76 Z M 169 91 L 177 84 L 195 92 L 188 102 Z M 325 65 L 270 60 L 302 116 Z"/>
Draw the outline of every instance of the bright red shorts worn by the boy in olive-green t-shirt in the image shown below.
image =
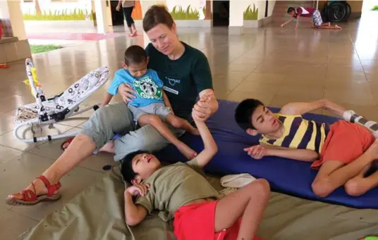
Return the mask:
<path fill-rule="evenodd" d="M 218 201 L 190 204 L 176 210 L 173 220 L 177 240 L 235 240 L 241 219 L 230 228 L 215 232 L 215 207 Z M 257 237 L 254 240 L 262 240 Z"/>

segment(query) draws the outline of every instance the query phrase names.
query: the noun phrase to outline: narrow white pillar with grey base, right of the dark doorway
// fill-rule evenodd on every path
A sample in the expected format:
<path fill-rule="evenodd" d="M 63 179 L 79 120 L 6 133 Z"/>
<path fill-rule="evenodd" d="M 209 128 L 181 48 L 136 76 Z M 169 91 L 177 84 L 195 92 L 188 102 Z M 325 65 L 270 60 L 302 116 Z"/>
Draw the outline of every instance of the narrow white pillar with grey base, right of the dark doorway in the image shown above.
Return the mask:
<path fill-rule="evenodd" d="M 244 6 L 238 0 L 230 0 L 230 15 L 228 34 L 243 34 L 243 11 Z"/>

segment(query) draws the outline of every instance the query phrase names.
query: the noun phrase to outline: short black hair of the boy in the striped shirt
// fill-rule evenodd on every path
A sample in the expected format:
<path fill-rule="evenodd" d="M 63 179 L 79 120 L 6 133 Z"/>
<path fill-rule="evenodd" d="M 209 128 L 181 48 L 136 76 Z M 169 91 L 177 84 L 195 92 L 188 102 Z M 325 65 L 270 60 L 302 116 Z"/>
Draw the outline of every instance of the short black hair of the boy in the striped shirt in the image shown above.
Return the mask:
<path fill-rule="evenodd" d="M 239 127 L 243 130 L 248 130 L 248 128 L 255 130 L 252 125 L 252 113 L 258 106 L 264 106 L 264 103 L 257 99 L 245 99 L 239 103 L 235 110 L 235 120 Z"/>

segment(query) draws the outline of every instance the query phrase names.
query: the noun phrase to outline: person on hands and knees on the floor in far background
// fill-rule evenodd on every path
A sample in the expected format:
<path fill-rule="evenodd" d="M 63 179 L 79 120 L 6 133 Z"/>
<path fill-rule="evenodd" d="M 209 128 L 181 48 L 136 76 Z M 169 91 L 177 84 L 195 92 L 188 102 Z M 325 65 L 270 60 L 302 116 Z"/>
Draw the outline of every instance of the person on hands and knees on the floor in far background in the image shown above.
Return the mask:
<path fill-rule="evenodd" d="M 341 30 L 341 27 L 339 25 L 331 26 L 331 23 L 323 23 L 322 20 L 322 14 L 319 12 L 319 10 L 315 8 L 304 8 L 304 7 L 298 7 L 298 8 L 288 8 L 287 13 L 291 15 L 292 18 L 287 20 L 285 23 L 281 24 L 281 27 L 285 27 L 288 23 L 293 22 L 294 19 L 296 19 L 294 30 L 298 28 L 299 25 L 299 18 L 312 18 L 312 28 L 319 28 L 319 29 L 339 29 Z"/>

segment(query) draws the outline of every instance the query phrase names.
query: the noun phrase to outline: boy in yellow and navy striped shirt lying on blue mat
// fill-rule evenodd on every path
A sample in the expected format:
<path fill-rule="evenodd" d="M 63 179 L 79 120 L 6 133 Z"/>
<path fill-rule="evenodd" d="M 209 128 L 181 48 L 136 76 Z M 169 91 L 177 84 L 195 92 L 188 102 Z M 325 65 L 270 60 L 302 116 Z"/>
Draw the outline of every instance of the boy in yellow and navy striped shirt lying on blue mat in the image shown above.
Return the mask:
<path fill-rule="evenodd" d="M 278 156 L 312 162 L 319 169 L 312 191 L 327 197 L 344 186 L 350 196 L 360 196 L 378 186 L 378 171 L 365 174 L 378 159 L 378 141 L 372 132 L 356 123 L 339 120 L 332 125 L 302 118 L 304 113 L 324 108 L 343 117 L 346 109 L 327 99 L 288 103 L 272 113 L 259 100 L 245 99 L 236 108 L 238 125 L 253 136 L 262 134 L 260 145 L 244 151 L 252 158 Z"/>

